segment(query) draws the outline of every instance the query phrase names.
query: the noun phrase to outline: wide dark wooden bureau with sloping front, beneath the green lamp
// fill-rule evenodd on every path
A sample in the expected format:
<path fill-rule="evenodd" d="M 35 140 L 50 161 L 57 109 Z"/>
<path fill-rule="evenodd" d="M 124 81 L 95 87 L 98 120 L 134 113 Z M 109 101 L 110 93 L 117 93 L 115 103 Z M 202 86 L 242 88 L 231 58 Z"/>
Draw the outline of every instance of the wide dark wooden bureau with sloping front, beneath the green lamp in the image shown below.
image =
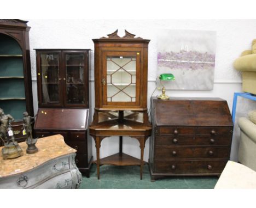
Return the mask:
<path fill-rule="evenodd" d="M 230 157 L 232 119 L 218 98 L 152 97 L 149 167 L 162 176 L 220 175 Z"/>

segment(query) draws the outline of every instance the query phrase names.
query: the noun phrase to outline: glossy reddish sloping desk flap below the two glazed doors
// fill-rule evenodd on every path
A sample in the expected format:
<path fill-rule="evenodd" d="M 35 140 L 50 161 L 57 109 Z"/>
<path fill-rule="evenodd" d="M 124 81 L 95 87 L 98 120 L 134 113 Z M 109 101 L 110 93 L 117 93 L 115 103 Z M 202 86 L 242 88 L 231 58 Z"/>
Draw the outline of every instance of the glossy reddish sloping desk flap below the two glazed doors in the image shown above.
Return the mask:
<path fill-rule="evenodd" d="M 89 109 L 39 108 L 34 129 L 86 130 L 88 116 Z"/>

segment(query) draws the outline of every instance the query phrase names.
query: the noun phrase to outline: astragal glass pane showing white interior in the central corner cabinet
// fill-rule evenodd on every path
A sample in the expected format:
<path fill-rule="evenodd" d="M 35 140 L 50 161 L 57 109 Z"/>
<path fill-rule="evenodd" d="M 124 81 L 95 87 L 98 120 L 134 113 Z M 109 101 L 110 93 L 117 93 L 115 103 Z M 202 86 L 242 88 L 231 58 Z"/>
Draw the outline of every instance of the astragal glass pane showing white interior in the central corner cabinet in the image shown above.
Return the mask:
<path fill-rule="evenodd" d="M 107 57 L 107 101 L 135 102 L 136 57 Z"/>

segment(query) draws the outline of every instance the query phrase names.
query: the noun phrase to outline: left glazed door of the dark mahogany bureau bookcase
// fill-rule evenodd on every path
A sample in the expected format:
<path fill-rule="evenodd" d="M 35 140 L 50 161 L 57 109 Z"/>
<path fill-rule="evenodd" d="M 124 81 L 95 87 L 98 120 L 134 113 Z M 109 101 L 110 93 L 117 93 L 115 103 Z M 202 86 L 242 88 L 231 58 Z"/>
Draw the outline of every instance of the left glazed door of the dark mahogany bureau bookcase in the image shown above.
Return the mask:
<path fill-rule="evenodd" d="M 62 106 L 61 52 L 37 52 L 37 86 L 41 107 Z"/>

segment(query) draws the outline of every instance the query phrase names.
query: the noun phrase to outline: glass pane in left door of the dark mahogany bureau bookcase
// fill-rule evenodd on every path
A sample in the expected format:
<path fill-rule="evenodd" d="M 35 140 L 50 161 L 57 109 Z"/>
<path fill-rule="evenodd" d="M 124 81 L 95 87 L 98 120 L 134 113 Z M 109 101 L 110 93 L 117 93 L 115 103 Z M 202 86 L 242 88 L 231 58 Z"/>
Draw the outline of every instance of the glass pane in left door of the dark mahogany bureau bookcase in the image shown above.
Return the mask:
<path fill-rule="evenodd" d="M 59 54 L 40 54 L 42 103 L 60 103 Z"/>

